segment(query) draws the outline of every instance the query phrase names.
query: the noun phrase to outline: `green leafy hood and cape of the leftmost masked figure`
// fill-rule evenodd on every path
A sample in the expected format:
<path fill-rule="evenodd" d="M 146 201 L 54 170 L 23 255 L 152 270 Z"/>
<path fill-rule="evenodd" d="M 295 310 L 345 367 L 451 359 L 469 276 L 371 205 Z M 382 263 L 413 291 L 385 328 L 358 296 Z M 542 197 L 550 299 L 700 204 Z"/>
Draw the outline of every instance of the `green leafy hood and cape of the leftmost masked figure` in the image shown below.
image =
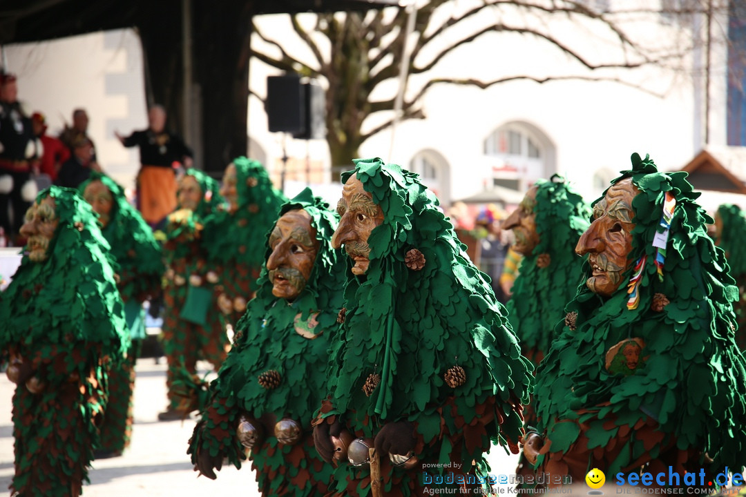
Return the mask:
<path fill-rule="evenodd" d="M 4 291 L 0 349 L 53 345 L 72 352 L 83 342 L 100 345 L 101 355 L 116 361 L 128 335 L 109 244 L 77 191 L 52 186 L 40 192 L 37 203 L 46 197 L 54 198 L 59 226 L 48 259 L 37 263 L 24 256 Z"/>

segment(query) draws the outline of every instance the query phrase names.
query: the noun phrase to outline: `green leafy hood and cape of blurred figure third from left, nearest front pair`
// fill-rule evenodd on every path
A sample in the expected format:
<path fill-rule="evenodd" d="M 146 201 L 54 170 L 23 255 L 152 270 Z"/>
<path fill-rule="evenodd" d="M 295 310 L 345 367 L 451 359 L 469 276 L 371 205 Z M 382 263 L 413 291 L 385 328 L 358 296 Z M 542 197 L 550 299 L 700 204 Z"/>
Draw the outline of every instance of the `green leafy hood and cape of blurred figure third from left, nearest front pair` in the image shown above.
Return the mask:
<path fill-rule="evenodd" d="M 272 186 L 266 169 L 246 157 L 233 159 L 239 206 L 236 212 L 219 209 L 207 218 L 204 244 L 210 261 L 240 261 L 259 268 L 263 264 L 265 240 L 257 233 L 267 232 L 278 218 L 287 197 Z"/>

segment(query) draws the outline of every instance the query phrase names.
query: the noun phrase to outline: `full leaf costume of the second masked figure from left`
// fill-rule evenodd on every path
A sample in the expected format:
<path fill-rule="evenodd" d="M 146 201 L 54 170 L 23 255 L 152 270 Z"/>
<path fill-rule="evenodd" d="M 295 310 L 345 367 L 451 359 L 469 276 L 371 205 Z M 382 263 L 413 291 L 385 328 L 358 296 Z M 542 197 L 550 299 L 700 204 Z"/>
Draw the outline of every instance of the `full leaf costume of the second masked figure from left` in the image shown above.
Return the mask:
<path fill-rule="evenodd" d="M 164 268 L 160 244 L 155 240 L 153 230 L 128 202 L 121 186 L 105 174 L 94 171 L 78 190 L 83 194 L 86 187 L 96 180 L 106 186 L 113 199 L 109 222 L 101 228 L 101 234 L 109 242 L 110 255 L 119 266 L 117 288 L 125 304 L 125 321 L 132 339 L 127 359 L 109 371 L 110 399 L 101 426 L 101 450 L 121 453 L 129 446 L 132 434 L 135 362 L 140 341 L 145 338 L 142 302 L 160 294 Z"/>

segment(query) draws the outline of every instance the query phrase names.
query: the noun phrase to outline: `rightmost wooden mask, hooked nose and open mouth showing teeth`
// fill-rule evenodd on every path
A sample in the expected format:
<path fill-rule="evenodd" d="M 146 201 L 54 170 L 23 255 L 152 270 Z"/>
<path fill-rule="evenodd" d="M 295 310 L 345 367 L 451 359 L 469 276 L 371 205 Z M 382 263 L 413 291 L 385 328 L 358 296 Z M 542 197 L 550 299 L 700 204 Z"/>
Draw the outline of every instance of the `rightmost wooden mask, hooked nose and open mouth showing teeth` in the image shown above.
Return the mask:
<path fill-rule="evenodd" d="M 589 254 L 592 275 L 586 285 L 595 294 L 611 297 L 622 284 L 624 272 L 633 265 L 632 200 L 639 193 L 630 178 L 614 183 L 593 207 L 593 222 L 577 241 L 575 252 Z"/>

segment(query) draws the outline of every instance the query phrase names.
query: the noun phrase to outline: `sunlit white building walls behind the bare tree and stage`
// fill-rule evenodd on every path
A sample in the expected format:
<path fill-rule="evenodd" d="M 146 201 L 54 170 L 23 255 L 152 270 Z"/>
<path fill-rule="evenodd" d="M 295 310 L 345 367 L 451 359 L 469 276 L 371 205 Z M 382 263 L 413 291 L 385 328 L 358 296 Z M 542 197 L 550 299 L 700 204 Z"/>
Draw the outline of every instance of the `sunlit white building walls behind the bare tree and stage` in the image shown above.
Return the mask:
<path fill-rule="evenodd" d="M 459 8 L 464 2 L 454 4 Z M 292 31 L 287 16 L 262 16 L 257 25 L 275 39 L 293 39 L 285 36 Z M 557 27 L 558 33 L 568 30 L 581 45 L 597 39 L 574 25 Z M 668 41 L 672 33 L 662 28 L 656 36 Z M 258 42 L 257 37 L 253 42 Z M 595 57 L 604 57 L 606 51 L 614 54 L 610 43 L 597 43 Z M 294 49 L 298 57 L 304 55 L 302 45 L 288 48 Z M 8 69 L 19 75 L 19 96 L 28 112 L 45 113 L 55 134 L 74 108 L 86 108 L 101 164 L 120 183 L 133 186 L 137 151 L 122 148 L 113 132 L 129 133 L 146 126 L 142 54 L 136 35 L 132 31 L 91 34 L 9 45 L 4 51 Z M 530 37 L 488 34 L 445 57 L 433 74 L 483 80 L 515 74 L 577 74 L 573 64 L 560 51 Z M 253 60 L 252 92 L 266 95 L 266 77 L 276 74 L 278 70 Z M 695 87 L 695 80 L 659 69 L 631 74 L 631 80 L 662 96 L 621 83 L 581 80 L 544 84 L 518 80 L 484 90 L 433 86 L 424 99 L 426 119 L 400 123 L 393 139 L 391 130 L 384 130 L 363 144 L 360 152 L 419 172 L 446 205 L 493 184 L 524 190 L 531 181 L 554 172 L 595 198 L 608 180 L 629 167 L 633 152 L 650 153 L 661 168 L 671 170 L 681 168 L 701 147 L 697 93 L 701 88 Z M 626 76 L 624 72 L 613 75 Z M 410 92 L 421 77 L 412 81 Z M 393 83 L 385 89 L 395 90 Z M 711 123 L 711 142 L 724 141 L 724 112 L 713 110 Z M 263 103 L 254 96 L 249 100 L 248 129 L 249 153 L 266 158 L 270 170 L 279 167 L 283 138 L 269 133 Z M 290 139 L 286 148 L 289 156 L 304 158 L 308 153 L 329 166 L 323 141 Z M 333 195 L 339 189 L 332 186 L 327 191 Z"/>

